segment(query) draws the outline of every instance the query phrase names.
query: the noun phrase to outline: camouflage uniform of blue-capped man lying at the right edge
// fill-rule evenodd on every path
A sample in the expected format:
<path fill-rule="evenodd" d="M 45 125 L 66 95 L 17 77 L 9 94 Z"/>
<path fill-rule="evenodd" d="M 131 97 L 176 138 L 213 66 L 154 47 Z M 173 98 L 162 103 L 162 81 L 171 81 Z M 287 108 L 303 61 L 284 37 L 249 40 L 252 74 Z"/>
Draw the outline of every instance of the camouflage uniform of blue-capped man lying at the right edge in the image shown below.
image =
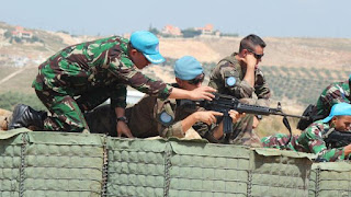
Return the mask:
<path fill-rule="evenodd" d="M 278 134 L 261 139 L 262 146 L 267 148 L 287 149 L 298 152 L 315 153 L 318 155 L 317 160 L 321 161 L 337 161 L 348 160 L 344 155 L 343 148 L 328 149 L 322 136 L 326 135 L 331 127 L 329 123 L 325 124 L 322 120 L 317 120 L 308 126 L 301 136 L 293 136 L 292 141 L 284 147 L 288 141 L 287 135 Z"/>

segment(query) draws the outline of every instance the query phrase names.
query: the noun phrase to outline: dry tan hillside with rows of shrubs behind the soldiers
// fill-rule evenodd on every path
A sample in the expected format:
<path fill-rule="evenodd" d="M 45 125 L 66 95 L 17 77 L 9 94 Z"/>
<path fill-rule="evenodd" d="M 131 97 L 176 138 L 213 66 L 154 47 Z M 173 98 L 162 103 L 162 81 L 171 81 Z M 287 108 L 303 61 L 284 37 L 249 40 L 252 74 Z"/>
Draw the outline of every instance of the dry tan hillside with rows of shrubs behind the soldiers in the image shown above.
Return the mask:
<path fill-rule="evenodd" d="M 0 23 L 0 30 L 14 26 Z M 10 43 L 0 37 L 0 93 L 16 91 L 33 94 L 32 80 L 37 66 L 59 49 L 98 37 L 71 36 L 66 33 L 32 31 L 41 42 Z M 160 38 L 160 51 L 166 66 L 150 66 L 143 72 L 167 82 L 173 82 L 172 65 L 191 55 L 210 70 L 215 63 L 236 51 L 242 37 L 231 38 Z M 267 43 L 261 68 L 273 91 L 273 101 L 302 106 L 313 103 L 328 83 L 341 81 L 350 74 L 351 39 L 263 37 Z M 293 107 L 296 108 L 296 107 Z"/>

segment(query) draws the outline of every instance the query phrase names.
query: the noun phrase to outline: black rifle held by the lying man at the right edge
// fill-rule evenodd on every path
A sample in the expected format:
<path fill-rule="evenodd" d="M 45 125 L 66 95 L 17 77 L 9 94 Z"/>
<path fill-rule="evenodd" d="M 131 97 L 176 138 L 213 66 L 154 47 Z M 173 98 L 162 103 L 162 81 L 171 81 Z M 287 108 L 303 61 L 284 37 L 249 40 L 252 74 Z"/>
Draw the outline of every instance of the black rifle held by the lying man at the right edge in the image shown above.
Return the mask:
<path fill-rule="evenodd" d="M 327 148 L 340 148 L 351 143 L 351 132 L 337 131 L 333 128 L 326 135 L 322 135 L 322 139 L 326 142 Z"/>

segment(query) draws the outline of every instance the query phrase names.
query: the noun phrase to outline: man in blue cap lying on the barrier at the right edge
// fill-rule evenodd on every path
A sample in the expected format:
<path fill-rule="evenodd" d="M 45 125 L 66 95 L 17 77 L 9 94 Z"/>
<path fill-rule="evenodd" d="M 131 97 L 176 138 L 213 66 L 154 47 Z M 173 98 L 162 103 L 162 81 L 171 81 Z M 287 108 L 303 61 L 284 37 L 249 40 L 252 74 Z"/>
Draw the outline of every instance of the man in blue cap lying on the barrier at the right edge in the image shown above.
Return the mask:
<path fill-rule="evenodd" d="M 285 147 L 290 137 L 278 134 L 261 139 L 263 147 L 287 149 L 298 152 L 315 153 L 317 161 L 337 161 L 350 159 L 351 144 L 341 148 L 327 148 L 324 138 L 332 130 L 351 130 L 351 105 L 339 103 L 332 106 L 331 112 L 325 119 L 309 125 L 301 136 L 293 136 L 291 142 Z"/>

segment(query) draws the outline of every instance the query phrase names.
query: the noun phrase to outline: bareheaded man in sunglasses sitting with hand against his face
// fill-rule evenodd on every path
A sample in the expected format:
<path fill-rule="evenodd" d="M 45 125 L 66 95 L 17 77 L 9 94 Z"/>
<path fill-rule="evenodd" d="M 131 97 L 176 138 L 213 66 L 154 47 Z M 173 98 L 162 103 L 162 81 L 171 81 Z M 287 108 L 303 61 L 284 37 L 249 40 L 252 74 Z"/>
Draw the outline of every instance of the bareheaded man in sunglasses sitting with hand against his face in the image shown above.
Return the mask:
<path fill-rule="evenodd" d="M 234 53 L 217 63 L 211 73 L 208 85 L 242 103 L 269 106 L 271 91 L 258 67 L 264 47 L 265 43 L 259 36 L 246 36 L 240 42 L 239 53 Z M 259 119 L 261 116 L 253 116 L 253 128 L 258 126 Z M 251 136 L 257 138 L 254 134 Z"/>

